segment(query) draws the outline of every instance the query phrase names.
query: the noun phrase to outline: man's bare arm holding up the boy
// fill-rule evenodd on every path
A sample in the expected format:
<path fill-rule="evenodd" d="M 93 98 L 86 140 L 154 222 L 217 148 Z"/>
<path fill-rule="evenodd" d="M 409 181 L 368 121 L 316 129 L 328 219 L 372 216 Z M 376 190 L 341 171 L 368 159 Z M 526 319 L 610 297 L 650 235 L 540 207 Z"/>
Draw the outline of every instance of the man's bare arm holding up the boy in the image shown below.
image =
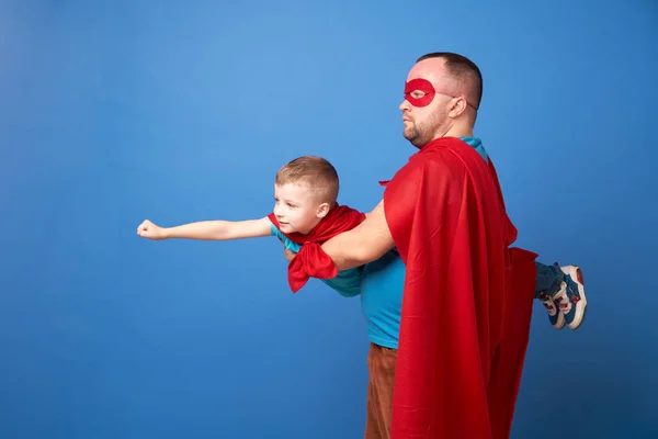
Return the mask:
<path fill-rule="evenodd" d="M 322 250 L 342 271 L 377 260 L 394 247 L 382 200 L 363 223 L 327 240 Z"/>

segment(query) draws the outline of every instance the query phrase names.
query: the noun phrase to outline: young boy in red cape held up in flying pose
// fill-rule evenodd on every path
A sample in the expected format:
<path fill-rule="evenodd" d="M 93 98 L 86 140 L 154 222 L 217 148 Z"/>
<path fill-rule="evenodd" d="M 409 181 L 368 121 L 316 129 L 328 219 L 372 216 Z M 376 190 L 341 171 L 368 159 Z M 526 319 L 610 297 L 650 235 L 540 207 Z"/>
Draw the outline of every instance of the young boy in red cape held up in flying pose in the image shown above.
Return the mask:
<path fill-rule="evenodd" d="M 303 246 L 305 241 L 322 244 L 365 218 L 365 214 L 339 205 L 338 192 L 339 179 L 333 166 L 324 158 L 304 156 L 290 161 L 276 172 L 275 204 L 268 216 L 238 222 L 203 221 L 174 227 L 160 227 L 146 219 L 137 227 L 137 234 L 154 240 L 228 240 L 276 236 L 286 249 L 297 254 L 288 267 L 288 282 L 293 291 L 299 290 L 308 279 L 299 267 L 305 264 L 311 268 L 309 271 L 313 277 L 319 278 L 341 295 L 352 297 L 360 294 L 363 267 L 337 272 L 330 260 L 322 260 Z M 392 254 L 396 254 L 396 250 L 392 250 Z M 587 306 L 580 269 L 540 262 L 536 262 L 536 268 L 535 297 L 548 312 L 551 324 L 557 329 L 565 324 L 570 329 L 577 329 Z M 400 284 L 400 297 L 402 290 L 404 284 Z"/>

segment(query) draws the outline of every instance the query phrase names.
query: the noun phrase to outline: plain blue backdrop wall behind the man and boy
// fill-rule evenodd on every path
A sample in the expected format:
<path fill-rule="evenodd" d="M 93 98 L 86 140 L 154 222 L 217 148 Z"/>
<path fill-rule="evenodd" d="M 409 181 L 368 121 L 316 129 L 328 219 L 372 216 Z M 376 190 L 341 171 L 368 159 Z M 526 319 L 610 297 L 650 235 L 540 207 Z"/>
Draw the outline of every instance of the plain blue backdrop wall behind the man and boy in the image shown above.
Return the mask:
<path fill-rule="evenodd" d="M 2 1 L 0 437 L 362 437 L 358 299 L 293 295 L 276 239 L 135 229 L 263 216 L 305 154 L 372 209 L 434 50 L 483 69 L 518 244 L 588 285 L 578 331 L 535 304 L 512 436 L 655 437 L 657 29 L 651 0 Z"/>

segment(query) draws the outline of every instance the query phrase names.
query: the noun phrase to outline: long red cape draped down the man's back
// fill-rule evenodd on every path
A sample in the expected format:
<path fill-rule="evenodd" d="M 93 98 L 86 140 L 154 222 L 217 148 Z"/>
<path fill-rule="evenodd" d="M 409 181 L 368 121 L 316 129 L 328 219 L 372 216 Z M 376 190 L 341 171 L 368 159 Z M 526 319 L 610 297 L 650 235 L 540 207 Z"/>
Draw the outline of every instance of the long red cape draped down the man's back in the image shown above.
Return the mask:
<path fill-rule="evenodd" d="M 517 229 L 496 169 L 466 143 L 441 138 L 385 184 L 406 264 L 392 438 L 507 438 L 536 255 L 509 249 Z"/>

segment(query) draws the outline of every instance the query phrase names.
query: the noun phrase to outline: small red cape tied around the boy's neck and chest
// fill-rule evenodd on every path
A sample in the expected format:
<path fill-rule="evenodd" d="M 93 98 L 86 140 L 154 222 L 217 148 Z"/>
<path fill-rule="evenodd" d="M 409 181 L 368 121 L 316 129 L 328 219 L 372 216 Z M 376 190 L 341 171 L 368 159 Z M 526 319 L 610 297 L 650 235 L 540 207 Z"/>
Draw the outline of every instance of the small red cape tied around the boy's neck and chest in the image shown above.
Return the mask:
<path fill-rule="evenodd" d="M 268 217 L 276 228 L 280 228 L 274 213 L 269 214 Z M 336 235 L 356 227 L 363 219 L 365 219 L 364 213 L 337 204 L 308 235 L 282 232 L 285 237 L 302 245 L 299 252 L 288 264 L 288 284 L 293 293 L 299 291 L 308 282 L 309 277 L 331 279 L 338 275 L 333 261 L 320 246 Z"/>

